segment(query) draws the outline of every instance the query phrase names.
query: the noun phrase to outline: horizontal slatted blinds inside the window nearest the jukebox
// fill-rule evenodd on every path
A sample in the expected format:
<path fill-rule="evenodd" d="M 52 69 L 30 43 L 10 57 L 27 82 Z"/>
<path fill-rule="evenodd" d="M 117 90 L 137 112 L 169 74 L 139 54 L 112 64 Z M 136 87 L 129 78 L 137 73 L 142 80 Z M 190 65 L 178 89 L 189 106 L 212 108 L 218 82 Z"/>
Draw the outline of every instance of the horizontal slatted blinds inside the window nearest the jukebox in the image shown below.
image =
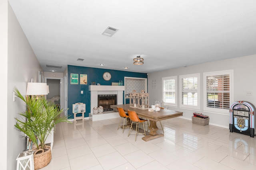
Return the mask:
<path fill-rule="evenodd" d="M 207 107 L 229 109 L 230 75 L 206 76 Z"/>

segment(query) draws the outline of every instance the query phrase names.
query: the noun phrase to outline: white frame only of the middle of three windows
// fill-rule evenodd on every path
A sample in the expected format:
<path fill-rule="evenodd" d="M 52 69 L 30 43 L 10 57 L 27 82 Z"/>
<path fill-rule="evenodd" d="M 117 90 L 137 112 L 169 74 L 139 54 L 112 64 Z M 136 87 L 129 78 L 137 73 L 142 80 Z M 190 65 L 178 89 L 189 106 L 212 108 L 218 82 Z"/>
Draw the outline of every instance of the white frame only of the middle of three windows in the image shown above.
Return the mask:
<path fill-rule="evenodd" d="M 182 90 L 183 90 L 182 78 L 192 78 L 192 77 L 197 77 L 197 106 L 182 104 Z M 200 73 L 180 75 L 180 95 L 179 96 L 180 96 L 180 108 L 200 110 Z"/>

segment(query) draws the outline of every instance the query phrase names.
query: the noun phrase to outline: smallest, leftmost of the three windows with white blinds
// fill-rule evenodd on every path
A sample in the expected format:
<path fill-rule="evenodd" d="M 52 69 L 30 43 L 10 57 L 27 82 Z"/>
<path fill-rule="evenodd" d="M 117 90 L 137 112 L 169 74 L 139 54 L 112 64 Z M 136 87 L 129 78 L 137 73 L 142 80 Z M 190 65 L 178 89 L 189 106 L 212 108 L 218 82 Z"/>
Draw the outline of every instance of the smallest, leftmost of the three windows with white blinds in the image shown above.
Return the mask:
<path fill-rule="evenodd" d="M 162 100 L 167 106 L 177 107 L 176 86 L 177 76 L 162 78 Z"/>

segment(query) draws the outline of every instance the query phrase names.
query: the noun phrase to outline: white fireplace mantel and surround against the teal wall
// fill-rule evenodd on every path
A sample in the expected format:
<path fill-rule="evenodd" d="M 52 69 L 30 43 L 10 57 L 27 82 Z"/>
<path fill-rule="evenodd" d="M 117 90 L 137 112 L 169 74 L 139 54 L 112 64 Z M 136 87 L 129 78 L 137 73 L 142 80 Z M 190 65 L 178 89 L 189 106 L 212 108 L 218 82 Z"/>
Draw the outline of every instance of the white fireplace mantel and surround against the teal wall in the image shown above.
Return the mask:
<path fill-rule="evenodd" d="M 116 94 L 116 104 L 123 104 L 124 86 L 95 86 L 90 85 L 91 113 L 93 107 L 98 107 L 98 95 Z"/>

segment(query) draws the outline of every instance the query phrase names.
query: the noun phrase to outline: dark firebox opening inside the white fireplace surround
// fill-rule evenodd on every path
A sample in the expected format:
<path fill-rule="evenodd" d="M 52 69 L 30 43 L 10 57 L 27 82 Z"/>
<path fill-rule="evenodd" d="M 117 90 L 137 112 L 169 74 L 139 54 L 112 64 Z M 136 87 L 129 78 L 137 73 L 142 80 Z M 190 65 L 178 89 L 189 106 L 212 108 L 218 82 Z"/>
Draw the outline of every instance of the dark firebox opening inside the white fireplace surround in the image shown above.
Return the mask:
<path fill-rule="evenodd" d="M 98 95 L 98 107 L 102 106 L 103 111 L 111 111 L 110 105 L 116 105 L 116 94 Z"/>

